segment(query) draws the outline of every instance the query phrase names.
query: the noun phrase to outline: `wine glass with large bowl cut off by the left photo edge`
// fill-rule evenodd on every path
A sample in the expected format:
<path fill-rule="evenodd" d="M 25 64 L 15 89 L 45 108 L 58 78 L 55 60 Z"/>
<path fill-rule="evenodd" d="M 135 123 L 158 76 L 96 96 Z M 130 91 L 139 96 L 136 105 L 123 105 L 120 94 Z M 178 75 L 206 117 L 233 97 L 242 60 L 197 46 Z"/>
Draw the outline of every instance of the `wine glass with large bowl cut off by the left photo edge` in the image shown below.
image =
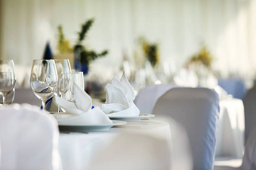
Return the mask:
<path fill-rule="evenodd" d="M 3 96 L 3 105 L 6 105 L 6 96 L 16 84 L 16 71 L 13 60 L 0 60 L 0 95 Z"/>

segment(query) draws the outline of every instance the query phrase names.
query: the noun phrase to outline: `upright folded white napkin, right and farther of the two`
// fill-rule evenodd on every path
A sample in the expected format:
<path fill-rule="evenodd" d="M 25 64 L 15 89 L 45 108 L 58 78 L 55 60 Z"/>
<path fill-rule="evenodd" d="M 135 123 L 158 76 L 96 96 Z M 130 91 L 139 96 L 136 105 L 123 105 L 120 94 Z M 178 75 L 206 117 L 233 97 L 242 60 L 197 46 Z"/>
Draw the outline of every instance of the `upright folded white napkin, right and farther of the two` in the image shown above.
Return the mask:
<path fill-rule="evenodd" d="M 133 103 L 135 95 L 125 71 L 120 81 L 114 77 L 105 89 L 107 91 L 106 102 L 101 105 L 101 109 L 108 116 L 138 116 L 140 114 L 140 110 Z"/>

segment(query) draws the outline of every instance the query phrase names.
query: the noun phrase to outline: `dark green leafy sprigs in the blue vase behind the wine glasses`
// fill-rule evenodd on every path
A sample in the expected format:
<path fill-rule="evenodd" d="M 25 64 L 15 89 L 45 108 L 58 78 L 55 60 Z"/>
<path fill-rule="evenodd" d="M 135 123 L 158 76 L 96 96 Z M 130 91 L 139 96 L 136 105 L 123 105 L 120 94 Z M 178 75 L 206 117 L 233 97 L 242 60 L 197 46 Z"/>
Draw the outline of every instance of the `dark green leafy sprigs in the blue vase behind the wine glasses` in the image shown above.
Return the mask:
<path fill-rule="evenodd" d="M 94 50 L 88 50 L 84 45 L 82 45 L 82 42 L 84 41 L 86 34 L 92 27 L 93 23 L 94 19 L 91 18 L 82 24 L 81 31 L 78 32 L 77 44 L 74 46 L 74 52 L 79 52 L 80 54 L 80 62 L 87 66 L 89 66 L 90 61 L 108 54 L 108 50 L 103 50 L 102 52 L 97 53 Z"/>

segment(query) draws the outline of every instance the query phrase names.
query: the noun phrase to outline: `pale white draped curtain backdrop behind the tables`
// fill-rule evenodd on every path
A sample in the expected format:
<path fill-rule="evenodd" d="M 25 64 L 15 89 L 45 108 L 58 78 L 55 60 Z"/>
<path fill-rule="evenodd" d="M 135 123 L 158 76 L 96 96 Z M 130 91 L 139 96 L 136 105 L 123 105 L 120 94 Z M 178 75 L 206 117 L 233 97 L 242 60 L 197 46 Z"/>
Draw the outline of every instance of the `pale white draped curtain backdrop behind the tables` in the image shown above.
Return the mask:
<path fill-rule="evenodd" d="M 256 71 L 256 0 L 2 0 L 2 58 L 30 66 L 46 41 L 58 53 L 57 26 L 74 45 L 81 23 L 95 18 L 86 44 L 109 50 L 97 64 L 119 65 L 133 57 L 136 39 L 159 43 L 161 60 L 177 68 L 202 42 L 223 74 Z M 92 65 L 93 66 L 93 65 Z M 95 66 L 96 67 L 96 66 Z"/>

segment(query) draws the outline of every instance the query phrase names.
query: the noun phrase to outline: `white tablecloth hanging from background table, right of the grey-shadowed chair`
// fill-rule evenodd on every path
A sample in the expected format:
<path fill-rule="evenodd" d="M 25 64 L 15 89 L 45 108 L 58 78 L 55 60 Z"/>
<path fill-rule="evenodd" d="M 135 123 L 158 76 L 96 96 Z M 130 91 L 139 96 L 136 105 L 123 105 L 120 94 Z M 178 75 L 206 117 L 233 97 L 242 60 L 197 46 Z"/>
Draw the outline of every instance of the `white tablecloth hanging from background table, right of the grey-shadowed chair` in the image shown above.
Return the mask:
<path fill-rule="evenodd" d="M 243 158 L 244 108 L 240 99 L 221 99 L 216 157 Z"/>

